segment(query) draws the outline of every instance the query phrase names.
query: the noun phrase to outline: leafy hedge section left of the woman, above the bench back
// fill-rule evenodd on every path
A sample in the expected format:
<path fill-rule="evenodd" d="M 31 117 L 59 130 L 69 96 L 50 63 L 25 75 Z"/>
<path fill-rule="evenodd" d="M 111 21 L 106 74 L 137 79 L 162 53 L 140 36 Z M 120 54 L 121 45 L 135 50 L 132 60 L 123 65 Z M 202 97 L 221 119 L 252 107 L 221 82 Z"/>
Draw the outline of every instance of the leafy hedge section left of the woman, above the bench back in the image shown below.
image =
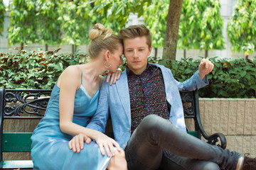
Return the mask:
<path fill-rule="evenodd" d="M 79 51 L 73 55 L 57 55 L 58 50 L 0 53 L 0 87 L 52 89 L 66 67 L 86 61 L 86 55 Z"/>

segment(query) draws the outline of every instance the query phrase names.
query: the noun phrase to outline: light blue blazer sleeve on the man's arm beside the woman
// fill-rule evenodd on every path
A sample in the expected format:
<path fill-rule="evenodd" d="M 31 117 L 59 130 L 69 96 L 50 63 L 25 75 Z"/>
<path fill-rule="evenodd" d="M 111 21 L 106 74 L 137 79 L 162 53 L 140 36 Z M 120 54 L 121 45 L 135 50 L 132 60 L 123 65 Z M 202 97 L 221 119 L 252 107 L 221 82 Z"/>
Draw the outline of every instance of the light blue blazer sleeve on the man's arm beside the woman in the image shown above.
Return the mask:
<path fill-rule="evenodd" d="M 97 106 L 97 111 L 90 120 L 90 123 L 86 126 L 86 128 L 90 128 L 93 130 L 98 130 L 100 132 L 105 132 L 105 128 L 107 125 L 107 119 L 109 118 L 109 102 L 108 102 L 108 83 L 106 82 L 106 77 L 103 79 L 102 86 L 100 88 L 100 96 Z"/>

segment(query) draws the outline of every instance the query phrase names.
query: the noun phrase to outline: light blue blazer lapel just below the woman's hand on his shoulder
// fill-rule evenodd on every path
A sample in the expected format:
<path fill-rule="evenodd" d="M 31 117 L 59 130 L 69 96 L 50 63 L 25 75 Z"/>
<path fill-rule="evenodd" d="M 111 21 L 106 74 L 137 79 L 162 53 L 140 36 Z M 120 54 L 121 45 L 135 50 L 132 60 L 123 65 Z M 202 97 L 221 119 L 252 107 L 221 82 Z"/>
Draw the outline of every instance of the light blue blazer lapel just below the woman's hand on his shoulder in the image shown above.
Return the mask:
<path fill-rule="evenodd" d="M 129 87 L 126 69 L 124 70 L 124 72 L 122 72 L 120 79 L 116 81 L 116 86 L 119 99 L 124 108 L 124 112 L 127 115 L 129 124 L 131 124 L 131 104 L 129 98 Z"/>

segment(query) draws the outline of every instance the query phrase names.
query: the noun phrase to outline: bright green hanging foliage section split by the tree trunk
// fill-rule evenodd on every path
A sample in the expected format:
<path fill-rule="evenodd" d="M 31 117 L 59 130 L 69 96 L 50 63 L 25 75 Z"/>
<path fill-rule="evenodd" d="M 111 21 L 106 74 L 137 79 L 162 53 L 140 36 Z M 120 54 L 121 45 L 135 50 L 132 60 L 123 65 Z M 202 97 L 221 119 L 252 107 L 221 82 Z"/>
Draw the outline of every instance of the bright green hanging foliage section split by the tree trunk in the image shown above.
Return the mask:
<path fill-rule="evenodd" d="M 153 47 L 163 47 L 168 8 L 169 0 L 152 1 L 149 6 L 144 7 L 144 23 L 153 35 Z M 222 50 L 224 48 L 222 30 L 223 18 L 220 16 L 219 0 L 183 1 L 178 48 Z"/>

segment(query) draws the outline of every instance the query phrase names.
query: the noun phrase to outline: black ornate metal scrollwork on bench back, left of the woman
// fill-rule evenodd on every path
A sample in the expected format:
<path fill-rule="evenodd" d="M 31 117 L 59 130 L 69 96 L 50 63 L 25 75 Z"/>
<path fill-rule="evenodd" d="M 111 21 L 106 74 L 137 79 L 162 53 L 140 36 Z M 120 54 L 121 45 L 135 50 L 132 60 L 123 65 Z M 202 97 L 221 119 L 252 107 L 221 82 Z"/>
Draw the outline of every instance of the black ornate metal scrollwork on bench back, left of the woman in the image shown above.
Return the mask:
<path fill-rule="evenodd" d="M 42 95 L 50 94 L 49 91 L 8 91 L 4 95 L 6 103 L 10 103 L 9 106 L 4 106 L 4 115 L 17 116 L 21 113 L 28 113 L 31 115 L 42 116 L 41 110 L 45 111 L 48 105 L 50 97 L 41 97 Z"/>

